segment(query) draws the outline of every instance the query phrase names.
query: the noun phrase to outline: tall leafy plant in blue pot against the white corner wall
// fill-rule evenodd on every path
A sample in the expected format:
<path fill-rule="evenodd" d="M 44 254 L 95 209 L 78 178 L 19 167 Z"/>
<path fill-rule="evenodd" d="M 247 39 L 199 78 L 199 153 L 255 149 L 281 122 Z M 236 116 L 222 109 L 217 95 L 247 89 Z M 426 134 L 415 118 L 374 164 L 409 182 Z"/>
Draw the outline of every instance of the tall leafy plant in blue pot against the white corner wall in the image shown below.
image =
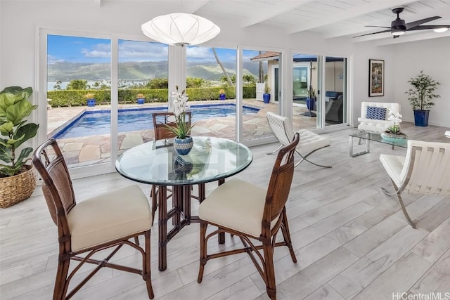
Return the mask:
<path fill-rule="evenodd" d="M 435 105 L 432 100 L 440 98 L 435 94 L 439 82 L 430 75 L 423 74 L 422 70 L 416 77 L 409 79 L 408 83 L 413 86 L 405 93 L 408 94 L 409 103 L 414 110 L 414 123 L 416 126 L 428 126 L 429 108 Z"/>

